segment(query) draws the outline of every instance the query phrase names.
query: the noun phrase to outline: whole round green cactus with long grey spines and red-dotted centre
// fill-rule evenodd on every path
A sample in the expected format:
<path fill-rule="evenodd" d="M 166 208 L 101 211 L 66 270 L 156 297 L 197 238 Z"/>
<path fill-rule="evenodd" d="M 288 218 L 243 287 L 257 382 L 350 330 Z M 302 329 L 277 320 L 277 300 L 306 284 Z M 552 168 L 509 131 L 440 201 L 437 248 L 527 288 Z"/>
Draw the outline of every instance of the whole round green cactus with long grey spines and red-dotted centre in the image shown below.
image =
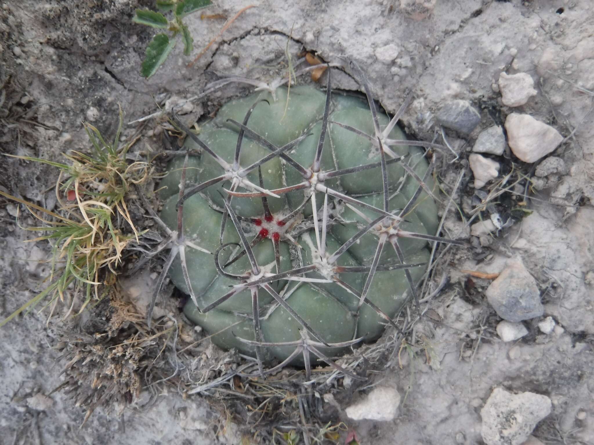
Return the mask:
<path fill-rule="evenodd" d="M 458 243 L 437 237 L 420 148 L 432 144 L 406 141 L 404 108 L 392 120 L 375 110 L 361 72 L 367 102 L 331 93 L 327 72 L 325 92 L 232 100 L 199 134 L 178 120 L 201 155 L 173 160 L 161 184 L 161 218 L 178 230 L 169 275 L 192 297 L 184 313 L 257 357 L 261 376 L 287 363 L 309 375 L 319 359 L 358 378 L 328 355 L 400 329 L 392 317 L 416 298 L 428 241 Z"/>

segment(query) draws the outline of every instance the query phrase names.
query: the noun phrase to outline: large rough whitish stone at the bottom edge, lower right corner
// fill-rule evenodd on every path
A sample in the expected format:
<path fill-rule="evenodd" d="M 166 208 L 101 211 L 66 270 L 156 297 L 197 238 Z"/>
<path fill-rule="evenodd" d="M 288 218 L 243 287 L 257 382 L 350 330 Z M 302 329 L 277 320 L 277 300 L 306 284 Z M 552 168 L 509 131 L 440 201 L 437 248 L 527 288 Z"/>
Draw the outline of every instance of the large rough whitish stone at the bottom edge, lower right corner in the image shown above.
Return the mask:
<path fill-rule="evenodd" d="M 520 445 L 551 413 L 551 399 L 533 392 L 512 394 L 495 388 L 481 409 L 481 435 L 487 445 Z"/>

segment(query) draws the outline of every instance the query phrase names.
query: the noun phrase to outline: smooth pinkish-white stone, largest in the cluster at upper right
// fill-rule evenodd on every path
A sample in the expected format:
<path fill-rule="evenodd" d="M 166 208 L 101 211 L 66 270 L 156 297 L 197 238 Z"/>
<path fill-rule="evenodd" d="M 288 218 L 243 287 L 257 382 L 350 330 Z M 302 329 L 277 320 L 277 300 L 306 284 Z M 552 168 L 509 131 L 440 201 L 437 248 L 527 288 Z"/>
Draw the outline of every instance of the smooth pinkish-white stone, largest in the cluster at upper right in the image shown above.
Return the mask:
<path fill-rule="evenodd" d="M 563 136 L 546 123 L 529 115 L 511 113 L 505 119 L 508 144 L 521 161 L 533 163 L 554 151 Z"/>

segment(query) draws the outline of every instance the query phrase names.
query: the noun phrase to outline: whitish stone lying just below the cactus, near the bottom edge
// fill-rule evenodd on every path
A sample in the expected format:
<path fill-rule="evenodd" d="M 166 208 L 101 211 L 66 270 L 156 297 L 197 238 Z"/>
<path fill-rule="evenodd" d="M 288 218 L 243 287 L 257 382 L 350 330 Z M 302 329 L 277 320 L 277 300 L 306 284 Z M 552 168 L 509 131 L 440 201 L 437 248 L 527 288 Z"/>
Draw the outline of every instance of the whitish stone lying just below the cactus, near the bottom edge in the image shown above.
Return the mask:
<path fill-rule="evenodd" d="M 399 392 L 390 386 L 377 386 L 359 402 L 346 408 L 353 420 L 390 421 L 396 418 L 400 405 Z"/>

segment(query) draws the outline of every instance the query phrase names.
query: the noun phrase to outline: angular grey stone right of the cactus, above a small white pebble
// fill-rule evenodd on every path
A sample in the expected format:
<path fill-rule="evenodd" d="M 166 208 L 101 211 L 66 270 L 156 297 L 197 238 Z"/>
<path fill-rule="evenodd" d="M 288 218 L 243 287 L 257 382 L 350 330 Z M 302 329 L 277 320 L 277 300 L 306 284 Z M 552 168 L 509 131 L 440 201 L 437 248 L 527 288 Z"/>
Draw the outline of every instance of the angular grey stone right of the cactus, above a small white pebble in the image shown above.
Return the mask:
<path fill-rule="evenodd" d="M 507 262 L 485 295 L 497 315 L 508 322 L 521 322 L 544 313 L 536 280 L 519 259 Z"/>

